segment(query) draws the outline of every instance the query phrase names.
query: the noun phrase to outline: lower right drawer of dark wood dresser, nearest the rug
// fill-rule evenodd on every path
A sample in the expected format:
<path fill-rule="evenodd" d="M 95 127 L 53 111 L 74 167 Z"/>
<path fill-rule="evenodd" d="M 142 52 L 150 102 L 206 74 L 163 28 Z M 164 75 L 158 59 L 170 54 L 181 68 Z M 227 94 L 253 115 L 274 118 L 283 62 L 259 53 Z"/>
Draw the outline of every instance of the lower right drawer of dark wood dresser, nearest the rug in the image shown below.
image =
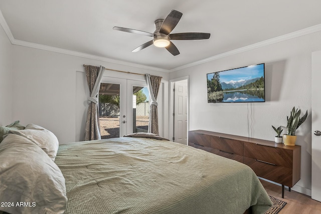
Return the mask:
<path fill-rule="evenodd" d="M 244 157 L 244 163 L 250 166 L 259 177 L 264 177 L 268 180 L 273 180 L 289 187 L 292 187 L 297 181 L 292 180 L 292 169 L 290 168 L 273 165 L 271 163 L 262 162 L 248 157 Z"/>

